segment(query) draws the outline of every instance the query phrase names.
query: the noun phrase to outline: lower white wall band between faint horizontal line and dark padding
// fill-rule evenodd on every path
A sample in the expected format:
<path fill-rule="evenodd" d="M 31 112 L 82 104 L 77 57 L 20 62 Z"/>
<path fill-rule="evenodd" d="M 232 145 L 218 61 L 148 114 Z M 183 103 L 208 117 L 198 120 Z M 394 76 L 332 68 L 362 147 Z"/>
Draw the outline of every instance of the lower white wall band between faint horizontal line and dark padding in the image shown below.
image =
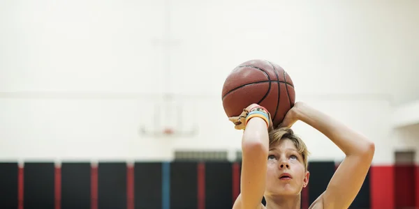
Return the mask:
<path fill-rule="evenodd" d="M 327 98 L 305 96 L 304 101 L 335 116 L 377 143 L 378 160 L 387 158 L 390 146 L 390 111 L 380 98 Z M 182 121 L 184 130 L 198 124 L 194 137 L 151 139 L 139 129 L 154 118 L 152 104 L 136 98 L 8 98 L 0 100 L 0 158 L 170 159 L 172 148 L 203 150 L 240 149 L 241 132 L 227 120 L 217 98 L 202 98 L 196 111 Z M 193 113 L 193 114 L 192 114 Z M 185 115 L 186 116 L 186 115 Z M 152 121 L 151 121 L 152 122 Z M 147 130 L 152 129 L 152 123 Z M 339 160 L 343 153 L 320 132 L 295 124 L 295 132 L 309 146 L 312 160 Z M 328 150 L 325 152 L 324 150 Z M 385 156 L 385 158 L 383 158 Z"/>

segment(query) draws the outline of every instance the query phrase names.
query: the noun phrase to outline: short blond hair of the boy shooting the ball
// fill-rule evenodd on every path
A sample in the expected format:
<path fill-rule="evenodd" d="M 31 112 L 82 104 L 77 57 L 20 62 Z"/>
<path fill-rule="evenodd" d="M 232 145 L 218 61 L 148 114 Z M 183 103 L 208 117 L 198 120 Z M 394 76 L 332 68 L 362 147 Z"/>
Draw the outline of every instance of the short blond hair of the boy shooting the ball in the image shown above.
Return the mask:
<path fill-rule="evenodd" d="M 307 149 L 307 146 L 304 144 L 304 141 L 302 141 L 300 137 L 295 135 L 294 131 L 289 127 L 281 127 L 281 128 L 272 130 L 269 133 L 270 146 L 277 144 L 282 139 L 289 139 L 293 141 L 295 148 L 297 148 L 297 152 L 300 153 L 300 155 L 302 156 L 304 167 L 307 171 L 308 169 L 307 157 L 309 155 L 309 150 Z"/>

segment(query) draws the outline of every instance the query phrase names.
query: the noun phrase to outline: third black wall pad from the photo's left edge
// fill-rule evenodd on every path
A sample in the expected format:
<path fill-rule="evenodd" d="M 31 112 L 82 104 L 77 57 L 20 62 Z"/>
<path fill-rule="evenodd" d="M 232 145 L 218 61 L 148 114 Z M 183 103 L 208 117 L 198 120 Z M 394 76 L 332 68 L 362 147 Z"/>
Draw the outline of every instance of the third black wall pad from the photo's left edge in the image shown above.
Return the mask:
<path fill-rule="evenodd" d="M 63 162 L 61 164 L 61 209 L 90 209 L 91 164 Z"/>

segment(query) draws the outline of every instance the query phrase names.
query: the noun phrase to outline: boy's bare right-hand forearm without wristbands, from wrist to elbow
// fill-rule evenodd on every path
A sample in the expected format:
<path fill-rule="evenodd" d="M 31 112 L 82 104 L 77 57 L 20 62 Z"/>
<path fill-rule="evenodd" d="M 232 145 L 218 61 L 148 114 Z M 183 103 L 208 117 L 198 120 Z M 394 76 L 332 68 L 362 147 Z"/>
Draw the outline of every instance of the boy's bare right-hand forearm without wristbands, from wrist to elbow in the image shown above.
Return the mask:
<path fill-rule="evenodd" d="M 298 109 L 300 121 L 314 127 L 335 143 L 346 155 L 365 155 L 374 153 L 374 144 L 365 136 L 351 130 L 335 118 L 324 114 L 307 104 Z"/>

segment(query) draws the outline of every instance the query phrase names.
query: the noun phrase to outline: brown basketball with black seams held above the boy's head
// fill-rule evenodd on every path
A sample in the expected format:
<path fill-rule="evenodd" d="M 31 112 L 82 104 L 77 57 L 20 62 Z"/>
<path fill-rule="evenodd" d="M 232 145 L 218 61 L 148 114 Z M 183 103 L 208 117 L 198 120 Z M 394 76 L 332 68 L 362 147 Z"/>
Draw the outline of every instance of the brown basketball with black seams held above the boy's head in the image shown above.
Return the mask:
<path fill-rule="evenodd" d="M 239 116 L 250 104 L 259 104 L 270 112 L 272 123 L 277 127 L 294 106 L 294 84 L 276 63 L 260 59 L 246 61 L 226 78 L 222 101 L 228 117 Z"/>

